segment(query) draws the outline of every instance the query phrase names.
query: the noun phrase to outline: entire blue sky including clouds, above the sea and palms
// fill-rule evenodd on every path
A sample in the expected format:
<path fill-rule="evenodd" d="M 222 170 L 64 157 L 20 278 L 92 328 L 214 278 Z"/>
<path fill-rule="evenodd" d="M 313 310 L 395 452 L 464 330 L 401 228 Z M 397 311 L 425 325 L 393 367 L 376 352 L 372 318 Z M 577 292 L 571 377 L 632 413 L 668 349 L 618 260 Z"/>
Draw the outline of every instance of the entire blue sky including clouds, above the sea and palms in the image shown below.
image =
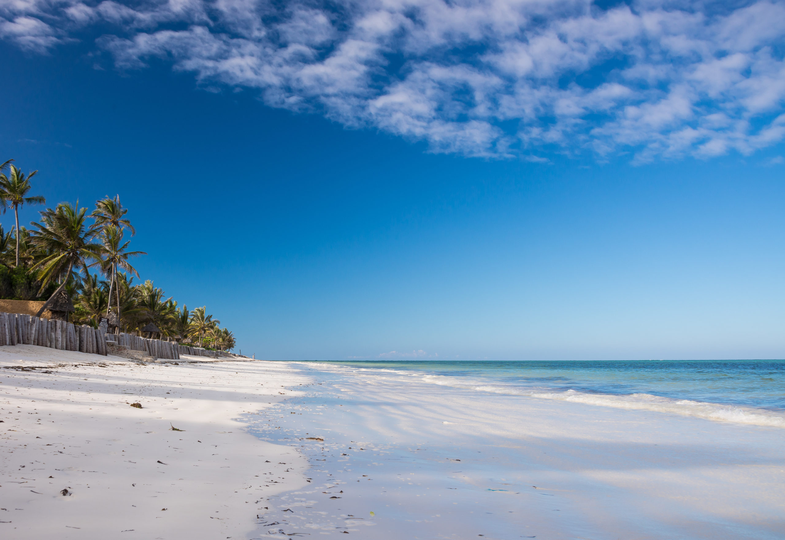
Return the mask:
<path fill-rule="evenodd" d="M 0 0 L 0 158 L 257 357 L 781 358 L 783 13 Z"/>

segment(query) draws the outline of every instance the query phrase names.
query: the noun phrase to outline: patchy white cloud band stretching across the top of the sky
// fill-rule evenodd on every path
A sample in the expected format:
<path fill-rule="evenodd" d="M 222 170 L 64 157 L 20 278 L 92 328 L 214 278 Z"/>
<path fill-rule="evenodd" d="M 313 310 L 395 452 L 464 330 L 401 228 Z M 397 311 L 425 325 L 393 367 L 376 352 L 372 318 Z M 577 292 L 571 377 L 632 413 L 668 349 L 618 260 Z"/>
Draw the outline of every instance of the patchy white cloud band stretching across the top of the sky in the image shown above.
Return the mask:
<path fill-rule="evenodd" d="M 119 69 L 168 60 L 433 152 L 644 162 L 785 136 L 772 0 L 0 0 L 0 38 L 34 53 L 90 28 Z"/>

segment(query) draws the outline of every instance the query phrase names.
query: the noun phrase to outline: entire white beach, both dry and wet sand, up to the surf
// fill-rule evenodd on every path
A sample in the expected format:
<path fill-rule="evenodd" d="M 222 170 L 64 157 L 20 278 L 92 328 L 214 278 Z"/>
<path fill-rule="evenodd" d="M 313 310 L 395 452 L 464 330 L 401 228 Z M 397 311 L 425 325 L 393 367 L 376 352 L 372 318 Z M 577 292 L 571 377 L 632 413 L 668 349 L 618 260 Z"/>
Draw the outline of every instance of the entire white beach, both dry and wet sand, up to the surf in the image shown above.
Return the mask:
<path fill-rule="evenodd" d="M 3 538 L 785 531 L 780 427 L 183 360 L 0 348 Z"/>

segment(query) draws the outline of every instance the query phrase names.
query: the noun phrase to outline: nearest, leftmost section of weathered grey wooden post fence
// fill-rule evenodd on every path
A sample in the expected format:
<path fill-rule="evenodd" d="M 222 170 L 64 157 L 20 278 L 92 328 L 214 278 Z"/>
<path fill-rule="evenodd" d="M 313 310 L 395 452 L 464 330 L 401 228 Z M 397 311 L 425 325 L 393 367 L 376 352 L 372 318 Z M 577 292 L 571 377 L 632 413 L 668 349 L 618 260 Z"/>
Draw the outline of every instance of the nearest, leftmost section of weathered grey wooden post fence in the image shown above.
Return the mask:
<path fill-rule="evenodd" d="M 0 312 L 0 345 L 38 345 L 106 356 L 104 334 L 86 324 Z"/>

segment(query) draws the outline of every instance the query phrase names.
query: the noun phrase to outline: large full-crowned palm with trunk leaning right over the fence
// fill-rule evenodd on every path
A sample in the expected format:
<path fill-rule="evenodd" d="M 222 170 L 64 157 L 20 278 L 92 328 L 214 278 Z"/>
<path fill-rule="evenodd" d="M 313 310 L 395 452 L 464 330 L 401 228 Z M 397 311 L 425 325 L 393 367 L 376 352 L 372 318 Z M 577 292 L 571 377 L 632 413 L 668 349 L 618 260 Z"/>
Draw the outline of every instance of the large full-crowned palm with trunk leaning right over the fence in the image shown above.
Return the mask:
<path fill-rule="evenodd" d="M 93 241 L 98 234 L 98 227 L 94 223 L 87 225 L 86 213 L 87 208 L 79 208 L 79 201 L 75 206 L 61 202 L 54 210 L 46 208 L 46 211 L 41 212 L 42 223 L 32 223 L 38 230 L 32 232 L 31 241 L 49 254 L 34 266 L 41 280 L 41 291 L 46 285 L 60 280 L 60 286 L 38 310 L 37 317 L 41 317 L 63 291 L 72 271 L 87 275 L 87 266 L 100 263 L 102 248 Z"/>

